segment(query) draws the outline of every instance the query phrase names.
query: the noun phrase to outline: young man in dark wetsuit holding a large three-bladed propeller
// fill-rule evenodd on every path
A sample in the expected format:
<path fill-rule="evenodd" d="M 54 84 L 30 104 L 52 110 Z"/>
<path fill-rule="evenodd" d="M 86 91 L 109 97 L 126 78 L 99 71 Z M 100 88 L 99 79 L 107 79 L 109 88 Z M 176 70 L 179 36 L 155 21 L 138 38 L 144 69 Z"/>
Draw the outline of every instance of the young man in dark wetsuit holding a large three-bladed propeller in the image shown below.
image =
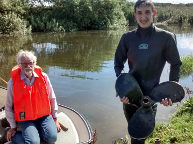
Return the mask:
<path fill-rule="evenodd" d="M 157 28 L 153 24 L 156 9 L 151 0 L 138 0 L 134 7 L 134 16 L 138 28 L 122 35 L 118 44 L 114 69 L 116 76 L 121 74 L 124 63 L 128 60 L 129 73 L 138 81 L 144 95 L 159 84 L 166 62 L 170 64 L 169 81 L 178 81 L 180 61 L 173 33 Z M 120 99 L 127 121 L 137 110 L 127 97 Z M 171 99 L 162 99 L 164 106 L 172 105 Z M 154 106 L 156 112 L 156 105 Z M 131 139 L 131 144 L 144 144 L 145 140 Z"/>

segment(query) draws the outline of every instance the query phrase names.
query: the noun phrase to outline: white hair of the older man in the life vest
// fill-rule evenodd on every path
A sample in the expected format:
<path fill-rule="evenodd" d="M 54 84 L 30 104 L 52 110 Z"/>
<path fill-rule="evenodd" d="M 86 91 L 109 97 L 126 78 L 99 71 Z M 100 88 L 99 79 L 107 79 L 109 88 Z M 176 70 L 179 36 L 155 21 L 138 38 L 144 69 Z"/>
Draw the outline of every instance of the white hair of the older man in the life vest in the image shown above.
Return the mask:
<path fill-rule="evenodd" d="M 34 62 L 34 65 L 36 65 L 36 63 L 37 63 L 37 57 L 34 55 L 33 51 L 20 50 L 17 53 L 17 57 L 16 57 L 16 61 L 17 61 L 18 65 L 21 64 L 21 58 L 22 57 L 28 57 L 28 58 L 32 59 Z"/>

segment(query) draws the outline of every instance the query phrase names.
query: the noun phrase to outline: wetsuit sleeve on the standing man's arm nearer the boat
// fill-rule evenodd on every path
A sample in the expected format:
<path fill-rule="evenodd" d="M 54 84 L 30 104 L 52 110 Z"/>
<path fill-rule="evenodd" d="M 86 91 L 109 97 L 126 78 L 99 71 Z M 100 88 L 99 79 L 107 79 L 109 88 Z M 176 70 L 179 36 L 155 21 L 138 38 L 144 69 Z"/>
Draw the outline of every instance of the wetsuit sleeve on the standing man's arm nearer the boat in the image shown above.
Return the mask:
<path fill-rule="evenodd" d="M 114 57 L 114 70 L 118 77 L 121 71 L 124 69 L 124 64 L 127 60 L 127 48 L 125 46 L 125 34 L 121 37 L 120 42 L 117 46 L 115 57 Z"/>

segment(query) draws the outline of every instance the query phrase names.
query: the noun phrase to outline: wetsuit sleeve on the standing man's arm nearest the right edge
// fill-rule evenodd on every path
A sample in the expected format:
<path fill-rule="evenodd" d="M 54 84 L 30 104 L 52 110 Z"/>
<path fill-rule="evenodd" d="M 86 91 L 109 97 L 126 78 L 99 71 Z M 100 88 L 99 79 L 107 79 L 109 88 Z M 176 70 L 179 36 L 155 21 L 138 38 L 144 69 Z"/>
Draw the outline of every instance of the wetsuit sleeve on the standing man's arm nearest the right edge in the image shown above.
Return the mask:
<path fill-rule="evenodd" d="M 170 64 L 169 81 L 179 81 L 180 78 L 180 66 L 182 62 L 180 60 L 179 52 L 177 49 L 176 36 L 173 34 L 169 37 L 166 45 L 165 57 Z"/>

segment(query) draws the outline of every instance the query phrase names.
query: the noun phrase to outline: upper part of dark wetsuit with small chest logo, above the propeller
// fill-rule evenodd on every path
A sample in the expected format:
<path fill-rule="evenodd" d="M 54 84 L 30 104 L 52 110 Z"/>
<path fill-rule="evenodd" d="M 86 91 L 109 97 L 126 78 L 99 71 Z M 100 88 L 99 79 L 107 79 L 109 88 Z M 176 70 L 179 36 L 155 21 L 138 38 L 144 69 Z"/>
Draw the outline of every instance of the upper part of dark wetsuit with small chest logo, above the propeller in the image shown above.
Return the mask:
<path fill-rule="evenodd" d="M 115 53 L 114 68 L 118 76 L 128 60 L 129 72 L 138 81 L 144 95 L 159 84 L 166 61 L 170 67 L 170 81 L 179 80 L 181 61 L 174 34 L 150 26 L 148 29 L 123 34 Z"/>

